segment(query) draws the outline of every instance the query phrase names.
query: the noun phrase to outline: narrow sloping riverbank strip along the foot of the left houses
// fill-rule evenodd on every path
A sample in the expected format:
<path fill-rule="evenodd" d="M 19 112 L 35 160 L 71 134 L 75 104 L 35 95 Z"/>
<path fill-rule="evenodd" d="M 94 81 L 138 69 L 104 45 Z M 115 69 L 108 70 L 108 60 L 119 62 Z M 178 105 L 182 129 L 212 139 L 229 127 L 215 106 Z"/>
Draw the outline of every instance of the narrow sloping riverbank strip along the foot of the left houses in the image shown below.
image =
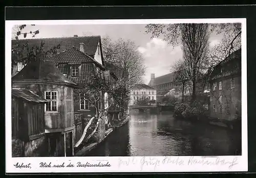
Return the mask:
<path fill-rule="evenodd" d="M 80 150 L 78 150 L 74 153 L 74 157 L 81 157 L 83 155 L 86 155 L 91 150 L 97 148 L 101 143 L 103 143 L 106 140 L 106 138 L 108 138 L 111 135 L 111 133 L 115 129 L 118 129 L 118 128 L 122 127 L 127 122 L 129 122 L 129 120 L 130 120 L 130 116 L 128 115 L 128 116 L 125 117 L 125 119 L 123 119 L 121 122 L 119 122 L 119 124 L 114 124 L 113 127 L 110 127 L 108 130 L 106 130 L 105 131 L 105 136 L 100 142 L 93 142 L 93 143 L 90 143 L 87 146 L 84 146 L 83 148 L 81 148 Z"/>

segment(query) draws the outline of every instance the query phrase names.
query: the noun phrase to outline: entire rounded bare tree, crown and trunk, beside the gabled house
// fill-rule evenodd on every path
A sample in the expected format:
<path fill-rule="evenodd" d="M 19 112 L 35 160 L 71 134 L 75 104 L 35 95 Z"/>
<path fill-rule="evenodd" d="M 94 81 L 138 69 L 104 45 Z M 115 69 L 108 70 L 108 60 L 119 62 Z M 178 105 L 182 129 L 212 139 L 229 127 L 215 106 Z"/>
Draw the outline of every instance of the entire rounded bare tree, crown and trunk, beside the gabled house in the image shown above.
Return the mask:
<path fill-rule="evenodd" d="M 113 41 L 109 36 L 102 39 L 103 57 L 114 66 L 111 70 L 117 76 L 119 95 L 115 95 L 121 115 L 129 102 L 129 90 L 137 83 L 142 83 L 145 65 L 138 47 L 131 40 L 122 38 Z"/>

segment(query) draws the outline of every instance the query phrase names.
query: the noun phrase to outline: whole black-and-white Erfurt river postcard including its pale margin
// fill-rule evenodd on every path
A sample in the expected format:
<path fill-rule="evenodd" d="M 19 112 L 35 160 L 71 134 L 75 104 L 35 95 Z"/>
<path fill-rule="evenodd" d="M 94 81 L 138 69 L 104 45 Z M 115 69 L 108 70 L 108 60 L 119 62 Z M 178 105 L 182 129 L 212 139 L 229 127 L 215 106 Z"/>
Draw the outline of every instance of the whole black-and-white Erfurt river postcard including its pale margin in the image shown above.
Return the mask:
<path fill-rule="evenodd" d="M 245 20 L 53 21 L 9 25 L 10 159 L 243 164 Z"/>

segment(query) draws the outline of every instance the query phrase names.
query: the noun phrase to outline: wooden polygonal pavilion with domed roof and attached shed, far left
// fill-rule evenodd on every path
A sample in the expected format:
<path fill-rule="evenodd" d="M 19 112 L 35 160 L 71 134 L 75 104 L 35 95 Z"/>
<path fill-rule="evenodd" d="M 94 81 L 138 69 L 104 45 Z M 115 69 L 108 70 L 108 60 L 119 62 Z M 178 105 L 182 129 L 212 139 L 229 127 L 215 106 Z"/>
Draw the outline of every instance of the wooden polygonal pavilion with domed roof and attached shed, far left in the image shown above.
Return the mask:
<path fill-rule="evenodd" d="M 29 147 L 24 157 L 74 155 L 62 141 L 73 136 L 75 87 L 53 62 L 39 58 L 12 77 L 12 136 Z M 35 144 L 49 152 L 37 152 Z M 73 148 L 73 141 L 69 146 Z"/>

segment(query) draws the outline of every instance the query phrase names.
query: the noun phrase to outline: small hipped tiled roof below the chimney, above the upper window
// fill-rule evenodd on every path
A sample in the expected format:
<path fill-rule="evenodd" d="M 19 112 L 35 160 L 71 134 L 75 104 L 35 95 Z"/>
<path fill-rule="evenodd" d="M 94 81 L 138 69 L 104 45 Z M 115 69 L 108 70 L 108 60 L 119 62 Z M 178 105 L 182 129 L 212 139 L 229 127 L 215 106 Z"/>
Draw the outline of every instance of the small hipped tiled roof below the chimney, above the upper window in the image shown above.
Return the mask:
<path fill-rule="evenodd" d="M 63 51 L 55 56 L 49 58 L 55 64 L 66 63 L 66 64 L 81 64 L 83 62 L 93 62 L 94 59 L 88 54 L 81 52 L 75 47 L 71 47 L 66 51 Z"/>

